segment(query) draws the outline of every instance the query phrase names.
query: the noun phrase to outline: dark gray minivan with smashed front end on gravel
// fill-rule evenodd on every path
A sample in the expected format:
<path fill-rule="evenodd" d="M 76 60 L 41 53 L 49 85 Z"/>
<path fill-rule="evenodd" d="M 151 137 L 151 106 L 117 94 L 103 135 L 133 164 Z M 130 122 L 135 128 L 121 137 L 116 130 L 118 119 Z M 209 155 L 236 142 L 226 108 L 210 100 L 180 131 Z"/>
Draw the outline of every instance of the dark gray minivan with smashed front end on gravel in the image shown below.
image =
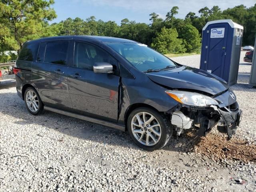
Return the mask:
<path fill-rule="evenodd" d="M 217 123 L 230 139 L 242 111 L 221 78 L 178 64 L 144 44 L 103 36 L 58 36 L 24 43 L 16 88 L 33 115 L 49 110 L 128 130 L 155 150 L 173 131 L 204 136 Z"/>

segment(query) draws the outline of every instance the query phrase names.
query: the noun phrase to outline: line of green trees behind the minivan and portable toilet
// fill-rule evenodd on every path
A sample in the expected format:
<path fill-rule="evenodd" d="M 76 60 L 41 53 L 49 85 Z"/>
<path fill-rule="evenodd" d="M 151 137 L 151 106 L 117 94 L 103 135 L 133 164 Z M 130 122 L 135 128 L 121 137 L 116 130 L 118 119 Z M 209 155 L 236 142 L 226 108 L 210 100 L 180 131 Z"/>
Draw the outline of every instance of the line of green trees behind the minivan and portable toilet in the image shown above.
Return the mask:
<path fill-rule="evenodd" d="M 184 19 L 175 17 L 179 8 L 174 6 L 165 18 L 151 13 L 150 24 L 124 18 L 120 25 L 114 21 L 96 20 L 94 16 L 86 19 L 67 18 L 50 24 L 57 17 L 51 8 L 52 4 L 53 0 L 0 2 L 0 62 L 6 60 L 5 51 L 19 52 L 24 42 L 48 36 L 98 35 L 127 38 L 167 54 L 200 52 L 202 28 L 211 20 L 232 19 L 244 26 L 244 45 L 254 44 L 256 33 L 256 4 L 249 8 L 239 5 L 223 11 L 218 6 L 204 7 L 198 10 L 198 14 L 189 12 Z"/>

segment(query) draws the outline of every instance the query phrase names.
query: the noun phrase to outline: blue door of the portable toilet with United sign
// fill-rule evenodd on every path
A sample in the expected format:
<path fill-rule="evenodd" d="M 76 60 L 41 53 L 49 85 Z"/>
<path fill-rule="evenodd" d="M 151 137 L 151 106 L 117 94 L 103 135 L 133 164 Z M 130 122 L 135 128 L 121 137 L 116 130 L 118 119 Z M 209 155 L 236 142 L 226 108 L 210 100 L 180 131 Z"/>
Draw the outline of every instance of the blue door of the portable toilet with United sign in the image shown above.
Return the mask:
<path fill-rule="evenodd" d="M 223 78 L 228 36 L 228 23 L 222 26 L 208 26 L 208 51 L 206 52 L 206 69 L 208 72 Z M 210 59 L 208 59 L 210 58 Z"/>

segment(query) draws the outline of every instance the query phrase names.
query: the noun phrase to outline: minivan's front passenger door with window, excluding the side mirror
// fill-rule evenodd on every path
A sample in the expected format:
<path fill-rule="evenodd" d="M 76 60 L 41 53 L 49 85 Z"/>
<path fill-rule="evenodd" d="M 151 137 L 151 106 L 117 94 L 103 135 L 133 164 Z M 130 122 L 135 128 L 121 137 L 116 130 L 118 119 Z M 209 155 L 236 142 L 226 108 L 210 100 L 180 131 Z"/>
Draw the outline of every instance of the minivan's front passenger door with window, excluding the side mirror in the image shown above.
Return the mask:
<path fill-rule="evenodd" d="M 118 62 L 102 48 L 74 42 L 74 67 L 68 70 L 68 87 L 73 111 L 111 122 L 118 119 Z M 114 74 L 93 72 L 95 62 L 109 62 Z"/>

